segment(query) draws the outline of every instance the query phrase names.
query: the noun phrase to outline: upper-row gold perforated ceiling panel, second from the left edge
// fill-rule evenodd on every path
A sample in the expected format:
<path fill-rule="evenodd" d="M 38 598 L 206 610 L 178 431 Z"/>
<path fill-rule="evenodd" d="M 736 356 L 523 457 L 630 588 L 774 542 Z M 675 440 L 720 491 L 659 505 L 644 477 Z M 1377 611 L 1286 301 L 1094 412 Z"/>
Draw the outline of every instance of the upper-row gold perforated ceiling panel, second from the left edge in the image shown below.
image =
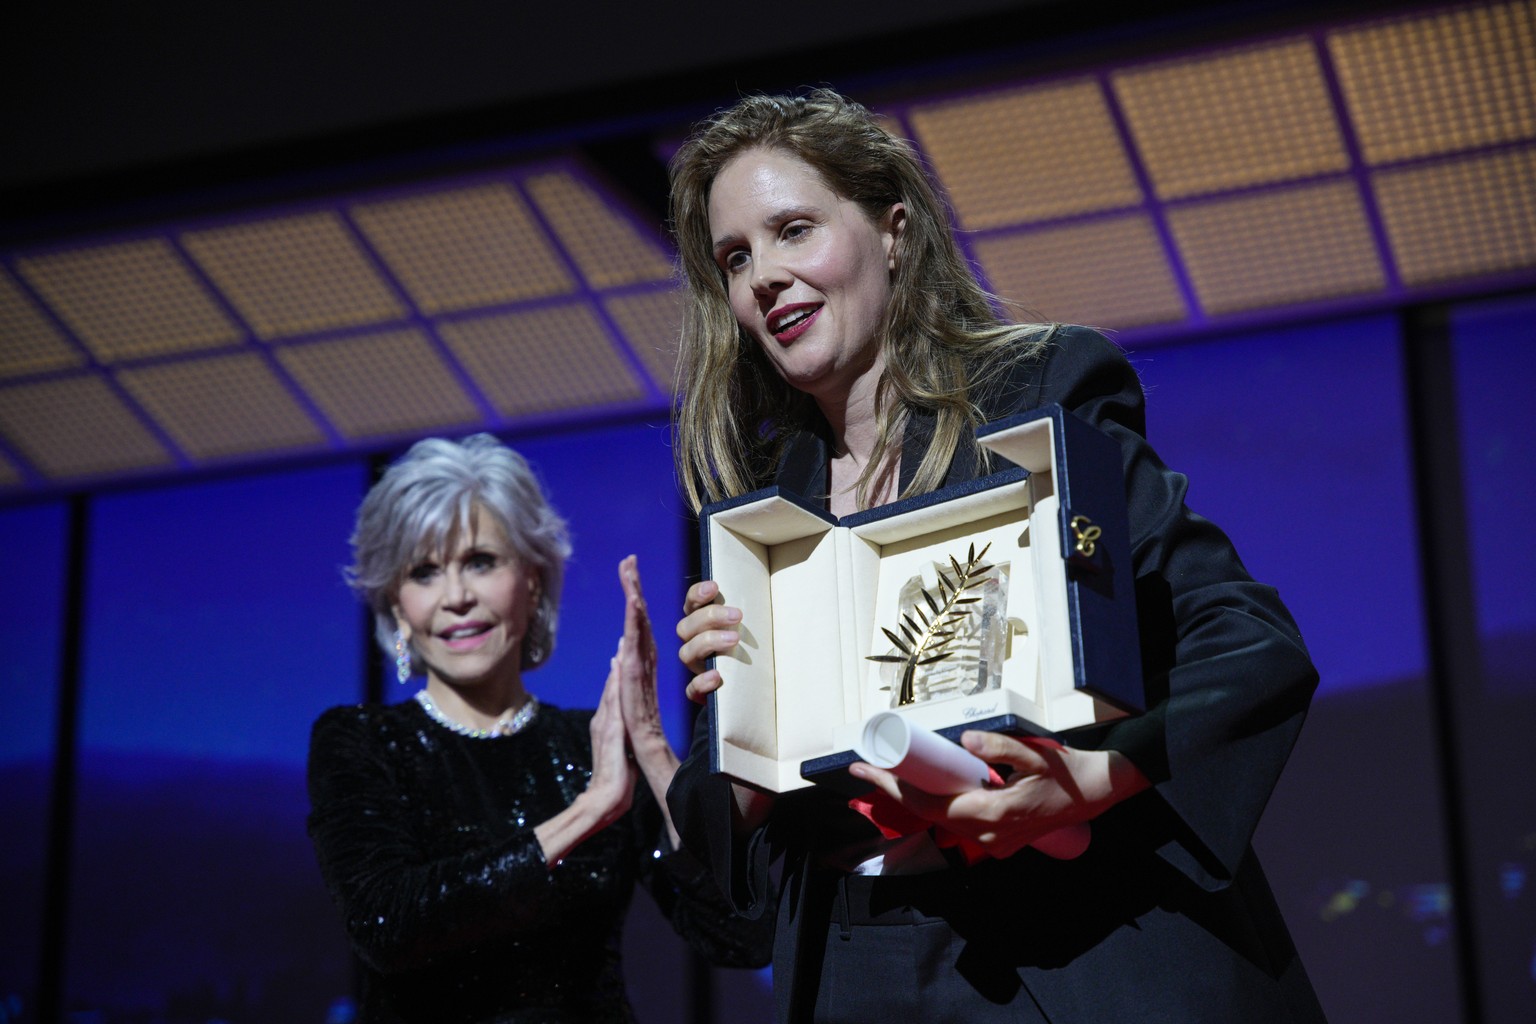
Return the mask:
<path fill-rule="evenodd" d="M 240 329 L 163 239 L 22 256 L 15 264 L 101 362 L 240 341 Z"/>

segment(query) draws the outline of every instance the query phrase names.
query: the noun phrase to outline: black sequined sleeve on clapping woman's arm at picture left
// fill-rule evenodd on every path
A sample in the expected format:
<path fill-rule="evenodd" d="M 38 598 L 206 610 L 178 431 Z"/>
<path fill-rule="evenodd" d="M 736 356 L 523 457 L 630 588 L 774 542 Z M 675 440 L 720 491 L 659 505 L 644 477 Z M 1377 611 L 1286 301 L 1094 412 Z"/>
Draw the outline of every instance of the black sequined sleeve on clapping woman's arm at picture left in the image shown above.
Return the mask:
<path fill-rule="evenodd" d="M 432 964 L 492 936 L 551 926 L 558 901 L 531 829 L 453 857 L 412 841 L 410 732 L 390 734 L 376 708 L 333 708 L 309 754 L 309 831 L 358 955 L 390 973 Z M 390 749 L 395 746 L 396 749 Z"/>

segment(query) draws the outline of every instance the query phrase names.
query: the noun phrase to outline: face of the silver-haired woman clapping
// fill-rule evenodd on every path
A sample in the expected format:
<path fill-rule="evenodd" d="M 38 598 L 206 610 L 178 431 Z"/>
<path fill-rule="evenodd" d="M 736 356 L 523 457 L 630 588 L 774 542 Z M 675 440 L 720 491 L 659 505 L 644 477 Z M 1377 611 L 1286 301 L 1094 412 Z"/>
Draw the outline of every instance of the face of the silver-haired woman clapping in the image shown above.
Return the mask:
<path fill-rule="evenodd" d="M 430 680 L 473 686 L 516 677 L 539 588 L 496 517 L 476 507 L 442 551 L 406 568 L 395 620 Z"/>

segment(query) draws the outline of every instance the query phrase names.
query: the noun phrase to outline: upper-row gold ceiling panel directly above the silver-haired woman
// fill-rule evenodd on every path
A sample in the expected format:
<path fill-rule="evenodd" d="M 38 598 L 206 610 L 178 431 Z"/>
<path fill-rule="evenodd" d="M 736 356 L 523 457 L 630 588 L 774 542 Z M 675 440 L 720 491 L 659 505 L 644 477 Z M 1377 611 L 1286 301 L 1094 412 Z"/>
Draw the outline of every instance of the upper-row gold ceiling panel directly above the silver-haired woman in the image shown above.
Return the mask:
<path fill-rule="evenodd" d="M 567 295 L 576 287 L 507 184 L 362 203 L 352 216 L 422 313 Z"/>

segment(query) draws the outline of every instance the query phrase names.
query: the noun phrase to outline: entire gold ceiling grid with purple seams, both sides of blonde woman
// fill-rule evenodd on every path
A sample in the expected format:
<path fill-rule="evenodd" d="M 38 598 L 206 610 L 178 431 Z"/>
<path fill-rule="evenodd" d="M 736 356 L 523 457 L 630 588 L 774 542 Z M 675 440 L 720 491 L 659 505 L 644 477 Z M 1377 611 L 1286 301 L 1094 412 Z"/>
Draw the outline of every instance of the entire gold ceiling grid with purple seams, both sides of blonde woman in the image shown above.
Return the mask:
<path fill-rule="evenodd" d="M 883 109 L 989 287 L 1040 315 L 1141 342 L 1296 304 L 1379 312 L 1536 284 L 1533 11 L 1060 78 L 1020 64 L 972 94 L 908 83 Z M 682 298 L 659 218 L 576 154 L 470 175 L 456 158 L 382 190 L 0 252 L 0 488 L 665 416 Z"/>

